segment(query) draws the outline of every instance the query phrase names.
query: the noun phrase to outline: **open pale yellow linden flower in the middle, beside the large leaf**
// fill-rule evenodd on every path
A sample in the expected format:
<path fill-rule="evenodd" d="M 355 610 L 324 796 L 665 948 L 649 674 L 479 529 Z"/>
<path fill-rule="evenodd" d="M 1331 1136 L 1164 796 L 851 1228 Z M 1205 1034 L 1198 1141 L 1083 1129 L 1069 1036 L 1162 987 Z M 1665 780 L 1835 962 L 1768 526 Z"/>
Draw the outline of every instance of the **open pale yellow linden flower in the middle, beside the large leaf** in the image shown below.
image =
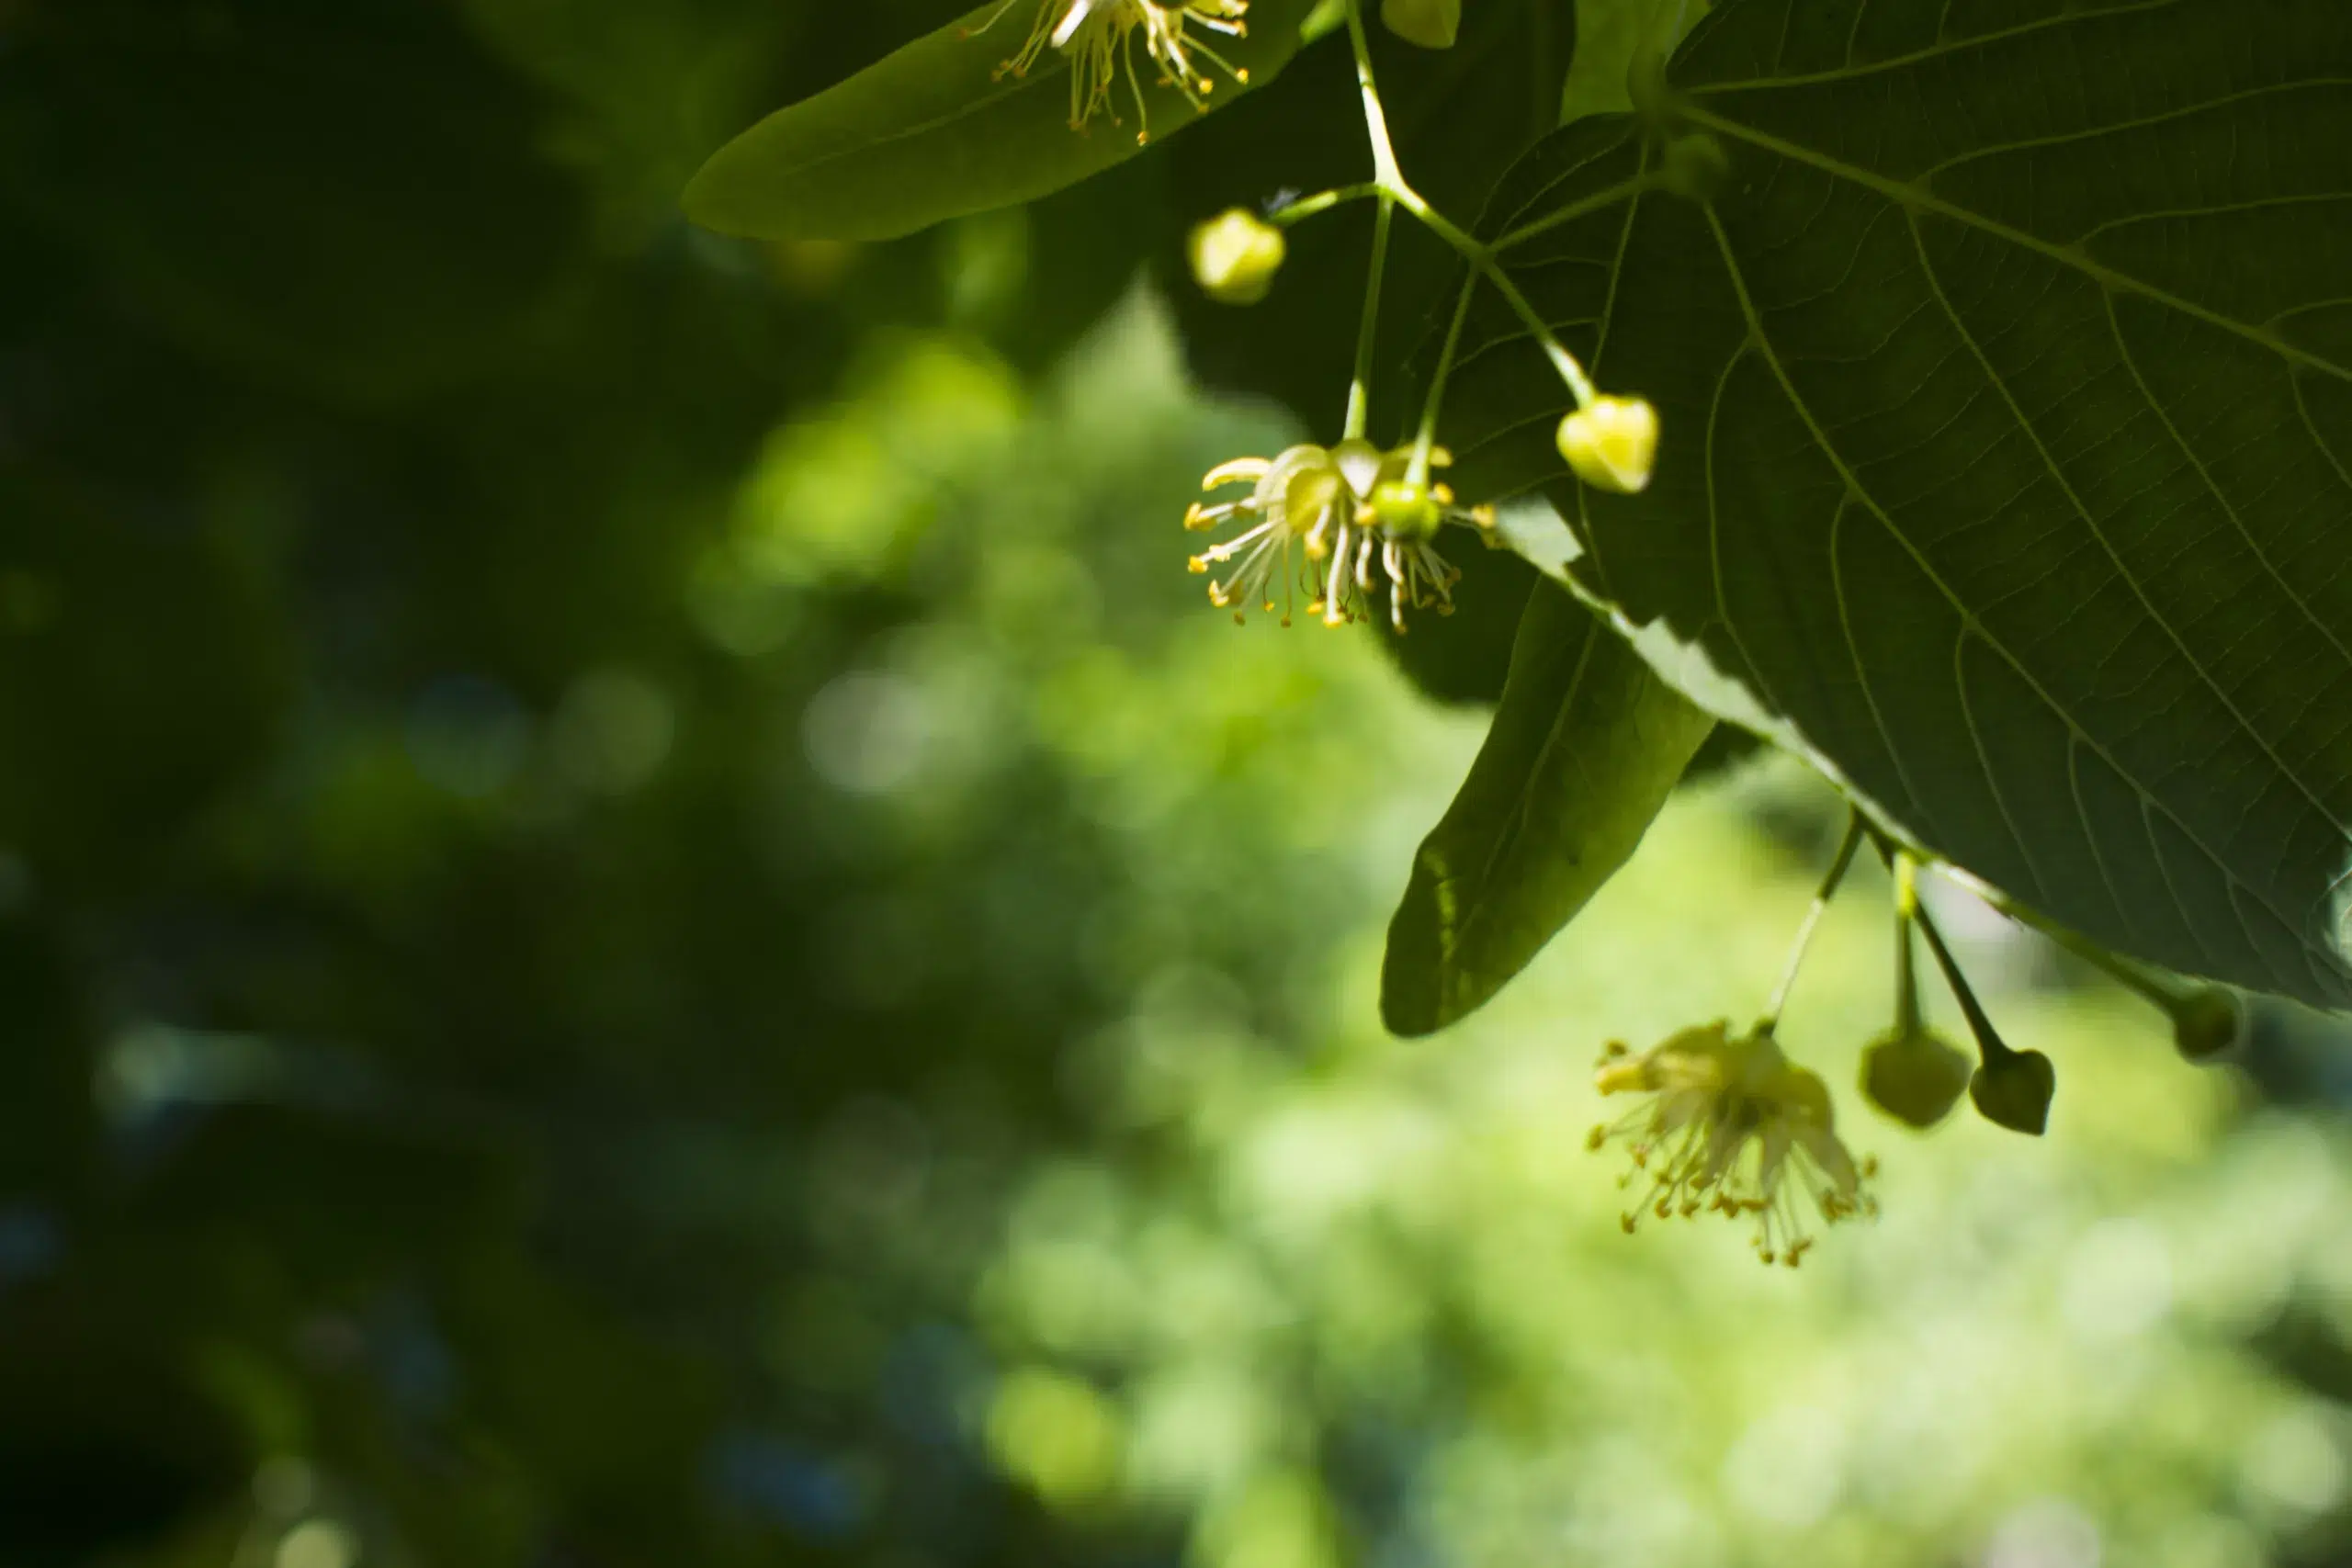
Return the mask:
<path fill-rule="evenodd" d="M 1430 463 L 1454 458 L 1439 447 Z M 1494 529 L 1491 508 L 1461 508 L 1444 484 L 1406 484 L 1411 449 L 1381 454 L 1364 440 L 1338 447 L 1291 447 L 1277 458 L 1235 458 L 1209 470 L 1202 489 L 1249 484 L 1240 501 L 1202 505 L 1183 517 L 1188 529 L 1247 522 L 1242 534 L 1192 557 L 1192 571 L 1232 562 L 1209 581 L 1209 602 L 1242 621 L 1256 604 L 1282 607 L 1291 623 L 1298 597 L 1324 625 L 1371 618 L 1371 595 L 1385 583 L 1388 621 L 1404 630 L 1406 609 L 1454 614 L 1456 571 L 1430 538 L 1446 522 Z"/>

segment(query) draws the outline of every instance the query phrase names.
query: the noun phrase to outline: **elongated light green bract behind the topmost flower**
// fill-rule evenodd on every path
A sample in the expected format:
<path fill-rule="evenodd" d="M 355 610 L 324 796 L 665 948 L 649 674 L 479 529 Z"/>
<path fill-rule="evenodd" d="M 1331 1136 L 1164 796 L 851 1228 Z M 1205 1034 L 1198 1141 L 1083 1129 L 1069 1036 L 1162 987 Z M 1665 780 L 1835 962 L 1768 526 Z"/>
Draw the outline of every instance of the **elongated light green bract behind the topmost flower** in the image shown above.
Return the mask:
<path fill-rule="evenodd" d="M 1110 103 L 1117 120 L 1096 115 L 1082 132 L 1070 129 L 1065 56 L 1047 49 L 1025 75 L 1000 73 L 1028 40 L 1037 2 L 981 5 L 847 82 L 776 110 L 703 165 L 687 186 L 687 216 L 757 240 L 894 240 L 1051 195 L 1134 158 L 1138 113 L 1124 73 Z M 1298 52 L 1310 5 L 1254 0 L 1247 38 L 1204 38 L 1261 87 Z M 995 26 L 974 35 L 990 19 Z M 1152 141 L 1200 118 L 1176 87 L 1157 80 L 1141 42 L 1134 61 Z M 1216 80 L 1207 108 L 1242 92 L 1207 59 L 1200 63 Z"/>

